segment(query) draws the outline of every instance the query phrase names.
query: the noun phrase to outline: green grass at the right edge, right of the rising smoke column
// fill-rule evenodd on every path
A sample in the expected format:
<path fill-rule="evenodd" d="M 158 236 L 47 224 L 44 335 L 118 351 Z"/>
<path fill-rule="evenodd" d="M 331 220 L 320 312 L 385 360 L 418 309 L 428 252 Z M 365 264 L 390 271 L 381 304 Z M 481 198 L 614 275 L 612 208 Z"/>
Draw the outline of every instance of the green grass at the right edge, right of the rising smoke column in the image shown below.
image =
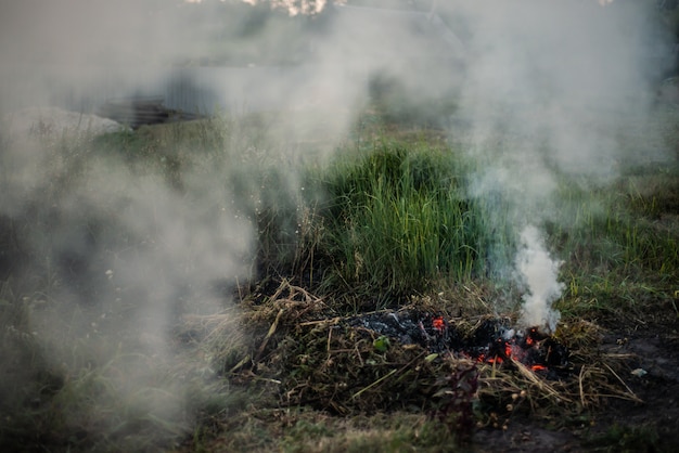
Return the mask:
<path fill-rule="evenodd" d="M 569 283 L 562 310 L 679 314 L 671 307 L 679 281 L 679 191 L 667 169 L 635 169 L 595 187 L 561 182 L 554 200 L 562 209 L 545 228 Z"/>

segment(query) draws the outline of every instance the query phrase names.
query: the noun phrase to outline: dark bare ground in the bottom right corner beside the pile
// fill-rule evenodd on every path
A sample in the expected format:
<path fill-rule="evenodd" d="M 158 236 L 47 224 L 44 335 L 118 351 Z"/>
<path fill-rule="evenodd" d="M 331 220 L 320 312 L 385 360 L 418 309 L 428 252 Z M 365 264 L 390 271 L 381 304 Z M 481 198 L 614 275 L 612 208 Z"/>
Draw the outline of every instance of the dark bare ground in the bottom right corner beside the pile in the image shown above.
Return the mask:
<path fill-rule="evenodd" d="M 504 431 L 478 430 L 473 451 L 679 451 L 679 321 L 676 312 L 665 315 L 650 322 L 604 323 L 611 325 L 601 351 L 626 357 L 628 373 L 620 378 L 642 403 L 606 399 L 588 419 L 561 429 L 513 419 Z"/>

